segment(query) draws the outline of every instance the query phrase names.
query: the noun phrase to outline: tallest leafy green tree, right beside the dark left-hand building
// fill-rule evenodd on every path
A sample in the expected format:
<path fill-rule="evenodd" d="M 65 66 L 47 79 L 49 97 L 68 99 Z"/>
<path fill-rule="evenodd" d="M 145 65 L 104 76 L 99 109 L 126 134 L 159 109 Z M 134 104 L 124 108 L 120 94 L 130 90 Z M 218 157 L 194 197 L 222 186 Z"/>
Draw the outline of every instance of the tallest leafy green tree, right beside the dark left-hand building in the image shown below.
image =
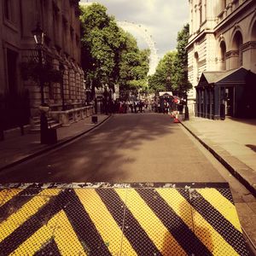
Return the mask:
<path fill-rule="evenodd" d="M 120 47 L 120 32 L 114 18 L 98 3 L 81 8 L 82 67 L 92 93 L 104 84 L 113 87 L 116 51 Z"/>

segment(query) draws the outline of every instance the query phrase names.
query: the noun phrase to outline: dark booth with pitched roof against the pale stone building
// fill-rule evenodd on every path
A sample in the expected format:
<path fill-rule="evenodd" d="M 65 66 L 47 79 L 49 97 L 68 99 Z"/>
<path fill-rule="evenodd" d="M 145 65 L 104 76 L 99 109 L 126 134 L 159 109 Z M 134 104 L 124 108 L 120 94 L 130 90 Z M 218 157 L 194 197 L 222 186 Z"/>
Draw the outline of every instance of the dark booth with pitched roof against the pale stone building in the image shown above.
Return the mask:
<path fill-rule="evenodd" d="M 241 67 L 226 72 L 204 72 L 196 90 L 195 116 L 207 119 L 256 117 L 253 99 L 256 74 Z M 254 82 L 255 83 L 255 82 Z"/>

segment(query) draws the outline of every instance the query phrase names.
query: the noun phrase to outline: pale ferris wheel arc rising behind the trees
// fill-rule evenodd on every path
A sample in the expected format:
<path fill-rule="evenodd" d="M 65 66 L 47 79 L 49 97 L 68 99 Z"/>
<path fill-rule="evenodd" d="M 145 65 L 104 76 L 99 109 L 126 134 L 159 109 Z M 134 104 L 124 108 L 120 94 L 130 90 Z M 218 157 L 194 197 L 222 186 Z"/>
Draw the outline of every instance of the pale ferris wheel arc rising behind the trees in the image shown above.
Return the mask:
<path fill-rule="evenodd" d="M 155 43 L 153 41 L 152 35 L 148 34 L 148 30 L 145 26 L 136 24 L 134 22 L 129 21 L 117 21 L 118 25 L 122 27 L 125 31 L 132 31 L 135 30 L 138 32 L 139 35 L 143 37 L 146 44 L 148 44 L 148 48 L 150 49 L 150 56 L 149 56 L 149 71 L 148 74 L 153 74 L 155 72 L 155 68 L 158 64 L 158 55 L 155 48 Z"/>

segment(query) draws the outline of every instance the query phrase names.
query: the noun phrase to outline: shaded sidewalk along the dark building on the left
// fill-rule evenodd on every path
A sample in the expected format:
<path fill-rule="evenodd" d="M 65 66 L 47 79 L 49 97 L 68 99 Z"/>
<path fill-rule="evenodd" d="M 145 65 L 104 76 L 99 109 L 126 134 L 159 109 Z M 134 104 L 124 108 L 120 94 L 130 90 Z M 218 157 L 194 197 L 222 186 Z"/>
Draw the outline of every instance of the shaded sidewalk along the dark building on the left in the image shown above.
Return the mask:
<path fill-rule="evenodd" d="M 102 122 L 110 117 L 106 114 L 98 114 L 96 116 L 98 119 L 97 124 L 93 124 L 91 122 L 91 117 L 88 117 L 70 126 L 58 128 L 58 142 L 53 145 L 41 144 L 40 133 L 26 133 L 24 136 L 17 135 L 14 137 L 7 137 L 0 142 L 0 171 L 47 152 L 51 148 L 56 148 L 64 143 L 68 143 L 74 138 L 79 137 L 102 124 Z"/>

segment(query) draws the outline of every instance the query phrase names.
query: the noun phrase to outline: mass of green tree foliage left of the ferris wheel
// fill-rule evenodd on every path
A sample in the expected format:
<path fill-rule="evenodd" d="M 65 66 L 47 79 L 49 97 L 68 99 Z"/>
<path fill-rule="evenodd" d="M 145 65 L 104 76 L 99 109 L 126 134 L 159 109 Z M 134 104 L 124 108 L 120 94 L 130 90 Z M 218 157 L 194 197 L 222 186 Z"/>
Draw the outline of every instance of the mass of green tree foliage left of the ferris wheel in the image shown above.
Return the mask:
<path fill-rule="evenodd" d="M 149 50 L 140 50 L 131 34 L 119 26 L 107 9 L 93 3 L 81 9 L 82 66 L 92 90 L 104 84 L 130 88 L 145 79 L 149 69 Z M 142 83 L 135 83 L 137 87 Z"/>

